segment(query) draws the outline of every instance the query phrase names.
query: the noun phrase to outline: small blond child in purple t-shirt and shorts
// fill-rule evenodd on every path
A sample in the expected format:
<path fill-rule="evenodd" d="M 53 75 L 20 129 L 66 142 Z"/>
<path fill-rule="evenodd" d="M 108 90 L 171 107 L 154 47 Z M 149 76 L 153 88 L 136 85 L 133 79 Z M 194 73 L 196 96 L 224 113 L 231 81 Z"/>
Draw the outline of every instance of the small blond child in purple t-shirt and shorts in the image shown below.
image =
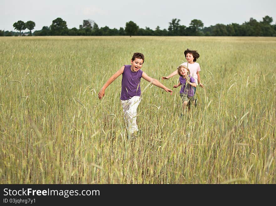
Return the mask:
<path fill-rule="evenodd" d="M 180 65 L 178 66 L 177 70 L 180 76 L 179 83 L 177 85 L 174 85 L 173 88 L 177 88 L 181 85 L 181 89 L 179 93 L 183 103 L 183 110 L 186 109 L 187 105 L 188 105 L 188 108 L 190 109 L 190 105 L 194 101 L 193 87 L 196 87 L 196 83 L 194 78 L 189 75 L 190 71 L 186 66 Z"/>

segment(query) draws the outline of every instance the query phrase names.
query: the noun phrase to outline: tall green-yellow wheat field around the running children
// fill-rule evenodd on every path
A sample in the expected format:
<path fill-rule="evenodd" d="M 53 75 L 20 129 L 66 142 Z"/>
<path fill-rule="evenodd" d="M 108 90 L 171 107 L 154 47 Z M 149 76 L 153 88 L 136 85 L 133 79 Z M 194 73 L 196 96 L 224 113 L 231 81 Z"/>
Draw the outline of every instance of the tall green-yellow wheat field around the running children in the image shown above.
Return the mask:
<path fill-rule="evenodd" d="M 197 108 L 181 111 L 178 75 L 198 50 Z M 1 37 L 1 184 L 275 184 L 276 38 Z M 140 133 L 127 139 L 121 76 L 142 70 Z M 183 117 L 180 118 L 180 114 Z"/>

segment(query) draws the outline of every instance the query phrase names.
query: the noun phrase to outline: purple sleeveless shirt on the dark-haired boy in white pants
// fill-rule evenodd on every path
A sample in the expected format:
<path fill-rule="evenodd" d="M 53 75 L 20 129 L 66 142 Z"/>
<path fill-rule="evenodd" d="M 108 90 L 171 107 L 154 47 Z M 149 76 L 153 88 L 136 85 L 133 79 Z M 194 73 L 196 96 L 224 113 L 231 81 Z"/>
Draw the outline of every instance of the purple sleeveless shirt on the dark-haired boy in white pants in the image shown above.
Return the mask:
<path fill-rule="evenodd" d="M 142 70 L 131 71 L 131 65 L 125 65 L 122 77 L 121 100 L 129 100 L 134 96 L 141 96 L 140 81 Z"/>

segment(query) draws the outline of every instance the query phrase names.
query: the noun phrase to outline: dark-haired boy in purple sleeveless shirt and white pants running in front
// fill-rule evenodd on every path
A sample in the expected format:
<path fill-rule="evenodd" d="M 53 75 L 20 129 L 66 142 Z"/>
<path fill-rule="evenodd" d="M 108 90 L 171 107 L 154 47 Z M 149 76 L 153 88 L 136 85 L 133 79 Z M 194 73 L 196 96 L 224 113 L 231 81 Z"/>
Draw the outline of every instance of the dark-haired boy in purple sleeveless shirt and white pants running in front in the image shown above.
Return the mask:
<path fill-rule="evenodd" d="M 122 87 L 121 87 L 121 104 L 124 111 L 124 119 L 128 129 L 128 137 L 139 129 L 136 124 L 137 107 L 141 101 L 141 77 L 146 81 L 151 82 L 153 85 L 164 89 L 166 92 L 173 91 L 161 84 L 157 79 L 149 77 L 144 71 L 141 70 L 144 63 L 144 55 L 141 53 L 134 53 L 131 58 L 131 65 L 122 66 L 114 75 L 112 75 L 104 84 L 98 93 L 99 99 L 104 97 L 105 89 L 122 74 Z M 132 135 L 134 136 L 134 135 Z"/>

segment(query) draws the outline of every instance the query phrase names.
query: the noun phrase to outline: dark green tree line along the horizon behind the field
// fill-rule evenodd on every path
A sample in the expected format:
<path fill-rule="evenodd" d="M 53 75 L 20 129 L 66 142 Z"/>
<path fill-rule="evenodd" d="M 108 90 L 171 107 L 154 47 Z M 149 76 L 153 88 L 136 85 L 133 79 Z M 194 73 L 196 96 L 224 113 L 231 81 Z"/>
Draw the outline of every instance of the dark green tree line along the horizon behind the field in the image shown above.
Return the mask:
<path fill-rule="evenodd" d="M 276 36 L 276 24 L 272 24 L 273 18 L 269 16 L 263 17 L 263 21 L 257 21 L 250 18 L 248 22 L 243 24 L 216 24 L 214 26 L 204 27 L 199 19 L 193 19 L 188 27 L 180 24 L 180 19 L 174 18 L 169 22 L 168 29 L 160 29 L 159 26 L 155 30 L 146 27 L 145 29 L 133 21 L 125 24 L 125 28 L 110 29 L 108 26 L 98 27 L 98 24 L 91 19 L 83 20 L 79 28 L 68 29 L 66 21 L 62 18 L 56 18 L 52 24 L 43 26 L 41 30 L 36 30 L 32 34 L 35 23 L 33 21 L 18 21 L 13 24 L 14 29 L 18 32 L 2 31 L 0 36 Z M 28 29 L 29 32 L 22 33 Z"/>

